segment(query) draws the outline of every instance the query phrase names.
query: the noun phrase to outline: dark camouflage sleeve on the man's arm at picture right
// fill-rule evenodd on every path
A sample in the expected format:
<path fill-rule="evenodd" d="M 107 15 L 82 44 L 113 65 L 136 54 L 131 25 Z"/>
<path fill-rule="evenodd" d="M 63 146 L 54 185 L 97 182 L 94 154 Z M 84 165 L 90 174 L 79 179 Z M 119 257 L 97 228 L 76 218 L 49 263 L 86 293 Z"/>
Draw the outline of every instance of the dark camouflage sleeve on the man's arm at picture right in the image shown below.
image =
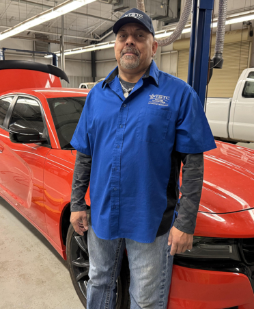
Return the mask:
<path fill-rule="evenodd" d="M 194 234 L 203 185 L 203 153 L 180 154 L 184 164 L 180 189 L 182 197 L 174 227 L 182 232 Z"/>

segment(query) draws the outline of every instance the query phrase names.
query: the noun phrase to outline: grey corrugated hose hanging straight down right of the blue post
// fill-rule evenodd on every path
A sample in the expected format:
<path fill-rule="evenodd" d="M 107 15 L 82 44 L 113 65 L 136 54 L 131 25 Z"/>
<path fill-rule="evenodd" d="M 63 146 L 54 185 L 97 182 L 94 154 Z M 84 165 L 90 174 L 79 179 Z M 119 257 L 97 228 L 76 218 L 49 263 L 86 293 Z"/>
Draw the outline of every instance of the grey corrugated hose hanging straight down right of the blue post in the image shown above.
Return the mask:
<path fill-rule="evenodd" d="M 214 48 L 214 56 L 212 58 L 214 62 L 213 67 L 215 69 L 222 69 L 223 66 L 223 47 L 225 39 L 226 18 L 227 18 L 227 0 L 219 0 L 216 42 Z"/>

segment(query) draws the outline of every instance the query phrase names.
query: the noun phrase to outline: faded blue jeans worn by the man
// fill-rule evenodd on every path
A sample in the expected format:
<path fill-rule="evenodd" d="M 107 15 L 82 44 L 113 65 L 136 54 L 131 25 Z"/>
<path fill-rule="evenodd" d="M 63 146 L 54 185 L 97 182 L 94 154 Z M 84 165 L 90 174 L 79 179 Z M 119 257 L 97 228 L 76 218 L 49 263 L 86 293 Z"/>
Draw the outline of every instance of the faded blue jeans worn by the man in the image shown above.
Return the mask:
<path fill-rule="evenodd" d="M 104 240 L 89 225 L 87 309 L 115 308 L 116 280 L 125 249 L 130 267 L 130 308 L 166 309 L 173 266 L 168 237 L 169 232 L 157 237 L 154 243 L 138 243 L 128 238 Z"/>

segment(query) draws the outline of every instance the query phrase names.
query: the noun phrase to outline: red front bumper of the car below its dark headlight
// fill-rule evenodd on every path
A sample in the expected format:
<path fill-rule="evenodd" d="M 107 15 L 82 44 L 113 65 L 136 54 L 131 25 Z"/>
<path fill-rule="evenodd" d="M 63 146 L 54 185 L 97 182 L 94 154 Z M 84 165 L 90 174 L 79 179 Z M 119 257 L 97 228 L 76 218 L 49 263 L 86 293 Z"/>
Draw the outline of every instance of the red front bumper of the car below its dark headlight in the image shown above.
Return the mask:
<path fill-rule="evenodd" d="M 253 309 L 249 278 L 242 273 L 173 265 L 167 309 Z"/>

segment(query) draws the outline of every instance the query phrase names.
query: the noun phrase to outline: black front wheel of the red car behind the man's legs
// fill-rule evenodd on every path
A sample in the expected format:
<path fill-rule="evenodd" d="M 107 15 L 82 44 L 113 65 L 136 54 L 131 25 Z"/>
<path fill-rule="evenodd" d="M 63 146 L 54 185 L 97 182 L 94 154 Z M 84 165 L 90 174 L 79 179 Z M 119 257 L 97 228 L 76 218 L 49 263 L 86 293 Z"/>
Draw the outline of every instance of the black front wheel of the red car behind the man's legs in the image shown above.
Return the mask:
<path fill-rule="evenodd" d="M 74 231 L 74 228 L 70 224 L 66 238 L 66 254 L 72 284 L 81 303 L 87 308 L 87 282 L 89 280 L 87 232 L 84 233 L 84 236 L 80 236 Z M 121 273 L 117 278 L 117 301 L 115 309 L 130 308 L 130 296 L 128 293 L 129 284 L 130 273 L 128 269 L 128 259 L 126 255 L 124 255 Z"/>

